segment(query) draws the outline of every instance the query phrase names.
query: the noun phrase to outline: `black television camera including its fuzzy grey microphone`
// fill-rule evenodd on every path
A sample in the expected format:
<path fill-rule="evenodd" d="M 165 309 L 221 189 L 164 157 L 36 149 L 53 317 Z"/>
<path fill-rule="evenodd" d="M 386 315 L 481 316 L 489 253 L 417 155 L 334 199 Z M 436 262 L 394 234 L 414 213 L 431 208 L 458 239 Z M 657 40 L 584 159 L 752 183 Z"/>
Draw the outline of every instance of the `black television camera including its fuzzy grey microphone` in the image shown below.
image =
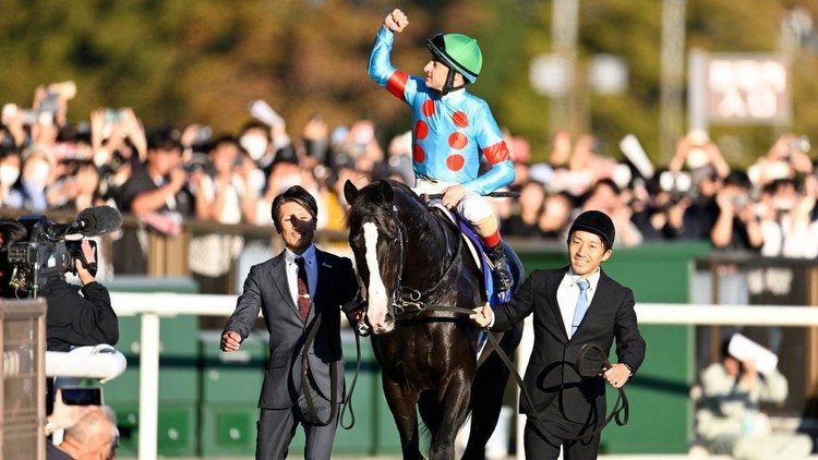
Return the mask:
<path fill-rule="evenodd" d="M 45 216 L 23 216 L 17 221 L 26 230 L 26 241 L 11 241 L 7 246 L 12 268 L 10 286 L 36 298 L 41 280 L 56 275 L 76 274 L 80 261 L 96 275 L 96 261 L 88 261 L 82 249 L 83 237 L 97 237 L 119 229 L 122 215 L 110 206 L 94 206 L 77 214 L 69 223 L 58 223 Z M 96 243 L 88 241 L 96 252 Z"/>

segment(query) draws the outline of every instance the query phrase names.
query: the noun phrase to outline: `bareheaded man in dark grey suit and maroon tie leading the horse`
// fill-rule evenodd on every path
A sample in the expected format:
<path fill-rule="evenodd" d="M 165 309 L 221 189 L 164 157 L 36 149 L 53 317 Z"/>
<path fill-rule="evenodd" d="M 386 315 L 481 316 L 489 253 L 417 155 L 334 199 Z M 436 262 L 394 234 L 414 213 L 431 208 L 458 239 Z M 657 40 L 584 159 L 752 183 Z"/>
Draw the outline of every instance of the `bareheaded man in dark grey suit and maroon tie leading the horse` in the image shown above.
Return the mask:
<path fill-rule="evenodd" d="M 258 399 L 256 459 L 286 458 L 299 424 L 306 433 L 305 459 L 329 459 L 333 448 L 337 416 L 332 415 L 337 415 L 337 405 L 333 411 L 330 401 L 340 404 L 345 392 L 340 306 L 356 300 L 358 281 L 349 258 L 313 245 L 317 211 L 315 198 L 299 185 L 276 196 L 273 222 L 286 249 L 250 269 L 221 335 L 222 351 L 239 350 L 260 311 L 269 331 L 269 363 Z M 318 315 L 320 330 L 304 350 Z M 302 375 L 308 382 L 302 382 Z"/>

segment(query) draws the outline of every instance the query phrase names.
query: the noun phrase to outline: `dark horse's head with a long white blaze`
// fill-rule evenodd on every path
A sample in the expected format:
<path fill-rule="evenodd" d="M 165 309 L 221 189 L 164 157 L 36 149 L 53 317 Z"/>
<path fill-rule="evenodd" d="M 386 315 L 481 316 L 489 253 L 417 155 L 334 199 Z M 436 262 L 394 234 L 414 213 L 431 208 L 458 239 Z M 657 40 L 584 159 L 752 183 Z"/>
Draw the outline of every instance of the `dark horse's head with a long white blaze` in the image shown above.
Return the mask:
<path fill-rule="evenodd" d="M 361 190 L 347 181 L 344 196 L 351 206 L 347 214 L 349 245 L 366 290 L 366 319 L 373 334 L 386 334 L 395 328 L 394 304 L 406 251 L 406 230 L 393 203 L 395 191 L 387 181 Z"/>

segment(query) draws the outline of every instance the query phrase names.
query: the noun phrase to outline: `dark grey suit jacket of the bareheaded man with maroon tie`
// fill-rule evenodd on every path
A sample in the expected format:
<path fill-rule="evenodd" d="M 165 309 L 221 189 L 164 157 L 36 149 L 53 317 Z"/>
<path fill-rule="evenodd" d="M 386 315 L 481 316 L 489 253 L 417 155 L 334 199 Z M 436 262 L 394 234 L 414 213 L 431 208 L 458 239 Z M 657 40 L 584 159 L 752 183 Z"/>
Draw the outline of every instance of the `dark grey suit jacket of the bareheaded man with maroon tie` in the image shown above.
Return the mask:
<path fill-rule="evenodd" d="M 309 350 L 310 372 L 315 382 L 315 390 L 328 400 L 329 368 L 336 366 L 341 379 L 337 390 L 338 402 L 342 400 L 340 305 L 354 299 L 358 281 L 352 262 L 347 257 L 338 257 L 315 249 L 315 261 L 317 285 L 306 317 L 306 326 L 292 301 L 284 252 L 250 269 L 236 311 L 225 326 L 226 331 L 237 331 L 244 339 L 250 335 L 260 310 L 264 315 L 269 331 L 269 363 L 258 399 L 258 407 L 262 409 L 286 409 L 298 404 L 299 395 L 302 392 L 300 353 L 318 312 L 322 312 L 322 324 Z"/>

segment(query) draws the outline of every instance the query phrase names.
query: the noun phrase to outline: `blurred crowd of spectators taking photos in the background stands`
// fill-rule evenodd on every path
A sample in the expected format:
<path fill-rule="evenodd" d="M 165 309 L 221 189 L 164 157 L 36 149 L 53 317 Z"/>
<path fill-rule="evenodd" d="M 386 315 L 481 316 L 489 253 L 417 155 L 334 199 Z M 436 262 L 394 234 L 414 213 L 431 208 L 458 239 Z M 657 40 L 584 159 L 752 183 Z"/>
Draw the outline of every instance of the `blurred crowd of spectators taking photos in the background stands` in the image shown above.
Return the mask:
<path fill-rule="evenodd" d="M 330 126 L 315 114 L 293 135 L 256 100 L 236 133 L 201 124 L 146 130 L 129 108 L 69 120 L 75 94 L 71 82 L 44 85 L 32 108 L 3 107 L 2 207 L 45 213 L 108 204 L 173 234 L 190 218 L 268 226 L 272 197 L 300 183 L 326 209 L 318 229 L 342 230 L 346 180 L 359 187 L 382 178 L 413 182 L 411 134 L 382 145 L 371 120 Z M 818 184 L 804 137 L 784 134 L 750 168 L 737 170 L 706 132 L 694 130 L 666 167 L 648 173 L 603 152 L 592 135 L 557 133 L 544 161 L 531 160 L 526 140 L 507 134 L 507 143 L 517 172 L 510 187 L 520 196 L 493 202 L 504 237 L 562 241 L 574 216 L 600 209 L 614 219 L 619 247 L 709 240 L 719 250 L 818 255 Z M 209 234 L 191 244 L 192 269 L 218 277 L 242 241 Z M 202 261 L 205 255 L 216 263 Z"/>

